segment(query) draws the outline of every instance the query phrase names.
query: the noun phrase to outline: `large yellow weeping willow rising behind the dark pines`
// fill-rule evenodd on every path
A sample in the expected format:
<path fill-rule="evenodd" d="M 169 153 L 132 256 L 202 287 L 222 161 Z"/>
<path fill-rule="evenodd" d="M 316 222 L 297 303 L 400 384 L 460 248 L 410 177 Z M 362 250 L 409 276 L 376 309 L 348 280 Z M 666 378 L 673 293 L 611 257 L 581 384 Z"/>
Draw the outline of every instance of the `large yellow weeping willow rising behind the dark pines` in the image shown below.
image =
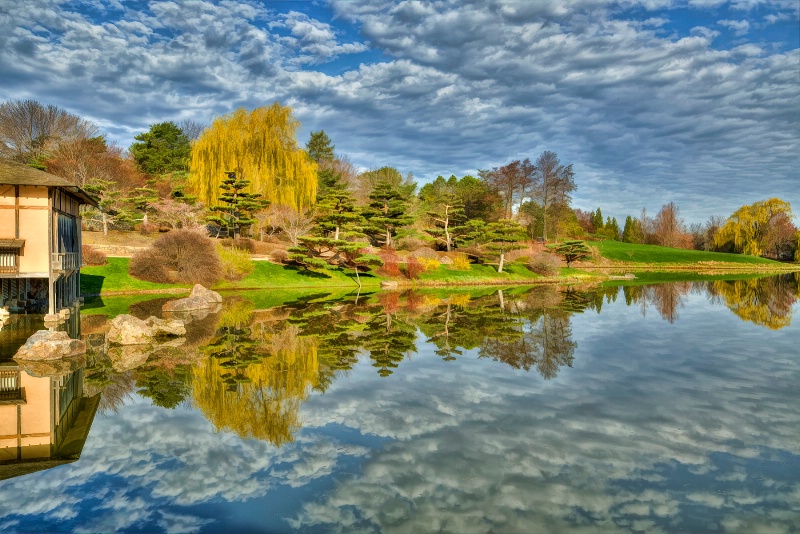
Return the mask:
<path fill-rule="evenodd" d="M 192 147 L 189 190 L 206 206 L 219 204 L 225 172 L 250 181 L 246 192 L 304 212 L 317 196 L 317 164 L 297 146 L 300 123 L 275 102 L 217 118 Z"/>

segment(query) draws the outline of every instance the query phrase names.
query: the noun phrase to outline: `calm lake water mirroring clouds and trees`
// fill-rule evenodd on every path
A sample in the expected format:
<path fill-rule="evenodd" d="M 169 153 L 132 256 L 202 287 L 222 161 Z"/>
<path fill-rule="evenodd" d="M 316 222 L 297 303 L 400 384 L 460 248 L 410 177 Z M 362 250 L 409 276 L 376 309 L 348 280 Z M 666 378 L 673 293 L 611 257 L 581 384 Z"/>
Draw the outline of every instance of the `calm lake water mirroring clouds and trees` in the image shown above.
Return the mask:
<path fill-rule="evenodd" d="M 80 459 L 12 436 L 0 531 L 798 532 L 799 282 L 242 293 L 146 351 L 96 312 L 164 299 L 90 303 L 20 371 Z"/>

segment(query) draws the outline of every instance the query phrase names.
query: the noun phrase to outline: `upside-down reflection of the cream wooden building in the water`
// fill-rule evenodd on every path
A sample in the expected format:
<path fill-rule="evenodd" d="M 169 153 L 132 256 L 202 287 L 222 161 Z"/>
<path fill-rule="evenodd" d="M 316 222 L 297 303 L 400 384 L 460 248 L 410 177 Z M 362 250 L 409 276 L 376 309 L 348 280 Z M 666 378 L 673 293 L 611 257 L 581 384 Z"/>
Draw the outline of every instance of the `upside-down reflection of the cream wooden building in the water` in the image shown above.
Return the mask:
<path fill-rule="evenodd" d="M 100 395 L 83 396 L 83 369 L 35 377 L 0 365 L 0 480 L 80 457 Z"/>

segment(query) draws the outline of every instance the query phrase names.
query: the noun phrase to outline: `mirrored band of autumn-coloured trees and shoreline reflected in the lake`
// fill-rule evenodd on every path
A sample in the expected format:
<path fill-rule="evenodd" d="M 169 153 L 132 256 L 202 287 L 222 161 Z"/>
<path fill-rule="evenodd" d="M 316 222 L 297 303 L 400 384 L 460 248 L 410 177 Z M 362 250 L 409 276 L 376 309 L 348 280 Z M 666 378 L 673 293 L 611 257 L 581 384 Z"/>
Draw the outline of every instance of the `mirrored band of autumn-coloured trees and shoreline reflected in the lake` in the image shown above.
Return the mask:
<path fill-rule="evenodd" d="M 536 371 L 552 380 L 572 367 L 578 342 L 572 319 L 624 296 L 643 316 L 655 309 L 670 324 L 691 294 L 706 294 L 755 324 L 780 328 L 791 321 L 797 277 L 679 282 L 624 287 L 537 287 L 478 292 L 394 291 L 350 301 L 324 295 L 256 310 L 242 296 L 195 318 L 179 345 L 109 347 L 102 326 L 87 321 L 92 349 L 91 391 L 102 391 L 101 410 L 114 410 L 135 391 L 157 406 L 198 407 L 221 431 L 283 445 L 300 429 L 298 411 L 312 390 L 324 392 L 369 358 L 390 378 L 417 351 L 417 332 L 443 361 L 466 353 Z M 140 302 L 142 318 L 165 299 Z M 92 329 L 99 333 L 92 333 Z"/>

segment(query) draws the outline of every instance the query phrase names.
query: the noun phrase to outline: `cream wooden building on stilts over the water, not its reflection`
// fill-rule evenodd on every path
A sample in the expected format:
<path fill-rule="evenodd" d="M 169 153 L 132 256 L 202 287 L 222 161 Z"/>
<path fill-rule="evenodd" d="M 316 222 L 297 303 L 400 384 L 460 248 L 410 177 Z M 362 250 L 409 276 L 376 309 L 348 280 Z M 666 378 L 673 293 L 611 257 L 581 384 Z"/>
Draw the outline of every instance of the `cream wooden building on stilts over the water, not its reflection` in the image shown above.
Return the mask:
<path fill-rule="evenodd" d="M 0 159 L 0 306 L 47 298 L 47 312 L 72 307 L 80 292 L 81 204 L 75 184 Z"/>

